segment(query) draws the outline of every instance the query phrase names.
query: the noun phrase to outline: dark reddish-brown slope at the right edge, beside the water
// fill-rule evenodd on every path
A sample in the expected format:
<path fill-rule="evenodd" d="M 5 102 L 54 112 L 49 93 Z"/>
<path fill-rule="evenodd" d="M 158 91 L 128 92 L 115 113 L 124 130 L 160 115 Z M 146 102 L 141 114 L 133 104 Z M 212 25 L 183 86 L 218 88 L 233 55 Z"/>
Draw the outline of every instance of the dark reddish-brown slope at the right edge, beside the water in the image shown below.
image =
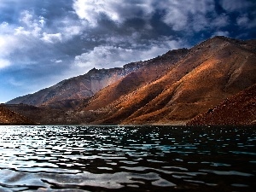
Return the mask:
<path fill-rule="evenodd" d="M 187 125 L 256 125 L 256 84 L 196 116 Z"/>

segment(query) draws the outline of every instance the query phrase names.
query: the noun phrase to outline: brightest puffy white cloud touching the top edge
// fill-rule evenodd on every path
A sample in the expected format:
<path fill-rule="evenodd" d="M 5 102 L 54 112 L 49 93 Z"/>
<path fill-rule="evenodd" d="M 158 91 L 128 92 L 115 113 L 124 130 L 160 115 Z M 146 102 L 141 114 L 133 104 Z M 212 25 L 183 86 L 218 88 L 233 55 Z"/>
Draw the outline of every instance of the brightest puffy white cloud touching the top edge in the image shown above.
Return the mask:
<path fill-rule="evenodd" d="M 87 20 L 90 26 L 97 26 L 102 15 L 110 20 L 121 23 L 124 20 L 140 17 L 150 17 L 154 13 L 152 0 L 125 1 L 125 0 L 75 0 L 73 9 L 80 19 Z"/>

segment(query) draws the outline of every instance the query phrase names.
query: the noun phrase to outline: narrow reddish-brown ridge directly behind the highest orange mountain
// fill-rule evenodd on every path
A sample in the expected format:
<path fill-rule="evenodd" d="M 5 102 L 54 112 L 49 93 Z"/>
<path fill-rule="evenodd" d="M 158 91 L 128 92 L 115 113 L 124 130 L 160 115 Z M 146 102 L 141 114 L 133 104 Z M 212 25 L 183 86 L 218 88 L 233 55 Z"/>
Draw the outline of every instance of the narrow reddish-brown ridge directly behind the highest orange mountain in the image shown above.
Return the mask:
<path fill-rule="evenodd" d="M 180 61 L 187 54 L 188 49 L 174 49 L 152 60 L 144 61 L 144 66 L 137 71 L 126 75 L 123 79 L 97 92 L 90 100 L 86 110 L 102 108 L 102 106 L 119 99 L 120 96 L 125 96 L 139 87 L 159 79 L 173 67 L 174 63 Z M 80 106 L 80 110 L 83 108 L 83 106 Z"/>

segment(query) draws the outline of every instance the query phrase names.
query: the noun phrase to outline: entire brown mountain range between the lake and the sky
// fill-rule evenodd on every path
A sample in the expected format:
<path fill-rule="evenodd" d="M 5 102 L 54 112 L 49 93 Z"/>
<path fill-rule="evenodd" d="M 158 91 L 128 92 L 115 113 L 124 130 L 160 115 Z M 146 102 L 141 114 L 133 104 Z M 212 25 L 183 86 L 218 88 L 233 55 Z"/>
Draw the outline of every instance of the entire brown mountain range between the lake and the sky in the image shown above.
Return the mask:
<path fill-rule="evenodd" d="M 252 125 L 255 61 L 256 40 L 214 37 L 148 61 L 91 69 L 5 107 L 44 125 L 232 125 L 224 119 L 247 106 L 240 123 Z"/>

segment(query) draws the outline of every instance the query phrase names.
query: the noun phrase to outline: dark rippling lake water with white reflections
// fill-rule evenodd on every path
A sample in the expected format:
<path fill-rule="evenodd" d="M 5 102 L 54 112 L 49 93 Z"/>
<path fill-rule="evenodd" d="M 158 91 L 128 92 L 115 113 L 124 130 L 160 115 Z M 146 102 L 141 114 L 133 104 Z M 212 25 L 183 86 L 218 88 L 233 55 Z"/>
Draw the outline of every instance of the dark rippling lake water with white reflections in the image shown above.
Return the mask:
<path fill-rule="evenodd" d="M 256 191 L 256 128 L 1 126 L 0 191 Z"/>

